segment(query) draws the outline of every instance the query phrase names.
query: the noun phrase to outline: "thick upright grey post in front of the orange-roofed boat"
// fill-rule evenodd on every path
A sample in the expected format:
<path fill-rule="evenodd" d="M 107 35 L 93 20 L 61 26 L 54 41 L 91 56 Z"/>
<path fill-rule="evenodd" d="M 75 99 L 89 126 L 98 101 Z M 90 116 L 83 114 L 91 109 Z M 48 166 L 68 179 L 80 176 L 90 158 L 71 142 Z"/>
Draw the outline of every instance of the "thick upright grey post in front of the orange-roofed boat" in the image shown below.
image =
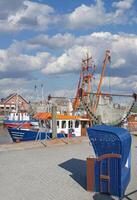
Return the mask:
<path fill-rule="evenodd" d="M 52 138 L 56 138 L 57 136 L 57 107 L 55 105 L 52 106 Z"/>

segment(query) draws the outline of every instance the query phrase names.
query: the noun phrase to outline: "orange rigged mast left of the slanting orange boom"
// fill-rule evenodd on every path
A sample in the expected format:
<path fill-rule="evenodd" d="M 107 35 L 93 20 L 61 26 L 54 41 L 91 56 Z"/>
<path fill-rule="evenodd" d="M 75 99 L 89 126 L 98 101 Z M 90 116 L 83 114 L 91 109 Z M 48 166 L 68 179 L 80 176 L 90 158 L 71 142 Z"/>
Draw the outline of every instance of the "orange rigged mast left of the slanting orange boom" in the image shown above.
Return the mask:
<path fill-rule="evenodd" d="M 89 102 L 90 92 L 91 92 L 91 80 L 95 72 L 95 65 L 93 66 L 92 57 L 82 60 L 82 69 L 80 72 L 76 97 L 73 102 L 73 111 L 76 112 L 80 107 L 80 102 L 84 99 L 87 103 Z"/>

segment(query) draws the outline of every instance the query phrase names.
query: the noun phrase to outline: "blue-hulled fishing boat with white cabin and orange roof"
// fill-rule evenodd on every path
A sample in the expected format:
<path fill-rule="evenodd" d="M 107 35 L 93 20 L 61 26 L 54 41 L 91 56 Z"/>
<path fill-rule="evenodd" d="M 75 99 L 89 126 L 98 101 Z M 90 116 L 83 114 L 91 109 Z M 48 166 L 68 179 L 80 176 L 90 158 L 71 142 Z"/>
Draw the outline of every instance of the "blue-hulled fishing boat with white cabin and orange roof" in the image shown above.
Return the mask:
<path fill-rule="evenodd" d="M 38 113 L 34 116 L 39 121 L 39 128 L 8 128 L 13 142 L 51 139 L 52 114 Z M 85 136 L 86 128 L 89 126 L 89 119 L 73 115 L 56 115 L 57 138 Z"/>

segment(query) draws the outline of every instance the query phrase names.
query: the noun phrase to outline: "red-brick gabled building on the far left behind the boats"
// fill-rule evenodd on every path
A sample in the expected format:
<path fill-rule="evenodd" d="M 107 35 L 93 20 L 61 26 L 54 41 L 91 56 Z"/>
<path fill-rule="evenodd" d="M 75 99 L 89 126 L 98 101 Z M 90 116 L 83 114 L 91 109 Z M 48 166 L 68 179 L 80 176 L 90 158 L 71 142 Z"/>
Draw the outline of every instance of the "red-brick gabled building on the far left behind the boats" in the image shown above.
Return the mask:
<path fill-rule="evenodd" d="M 0 101 L 0 112 L 1 113 L 9 113 L 13 110 L 28 112 L 29 111 L 29 102 L 17 93 L 10 94 L 5 99 L 2 98 Z"/>

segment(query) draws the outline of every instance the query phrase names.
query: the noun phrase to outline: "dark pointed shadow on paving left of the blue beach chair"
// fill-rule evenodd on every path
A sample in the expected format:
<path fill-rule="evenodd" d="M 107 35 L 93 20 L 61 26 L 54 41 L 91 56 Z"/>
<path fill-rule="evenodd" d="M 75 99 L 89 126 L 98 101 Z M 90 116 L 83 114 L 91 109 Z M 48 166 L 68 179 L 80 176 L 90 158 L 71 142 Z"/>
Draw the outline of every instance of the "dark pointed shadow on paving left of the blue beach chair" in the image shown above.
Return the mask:
<path fill-rule="evenodd" d="M 72 158 L 64 163 L 59 164 L 63 169 L 71 172 L 73 178 L 81 187 L 86 190 L 86 161 Z"/>

